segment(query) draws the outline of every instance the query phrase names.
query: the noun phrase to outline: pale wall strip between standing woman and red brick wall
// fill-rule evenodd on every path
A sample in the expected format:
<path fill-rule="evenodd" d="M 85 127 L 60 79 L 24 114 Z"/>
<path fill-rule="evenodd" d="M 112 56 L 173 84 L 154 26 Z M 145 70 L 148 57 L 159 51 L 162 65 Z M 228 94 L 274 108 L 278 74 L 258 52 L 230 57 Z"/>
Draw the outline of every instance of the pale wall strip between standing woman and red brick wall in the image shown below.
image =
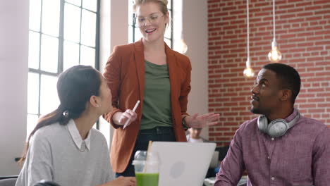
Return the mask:
<path fill-rule="evenodd" d="M 183 37 L 188 45 L 185 55 L 192 65 L 191 92 L 188 97 L 188 112 L 208 113 L 208 68 L 207 68 L 207 1 L 183 0 Z M 202 137 L 209 137 L 208 128 L 204 128 Z"/>

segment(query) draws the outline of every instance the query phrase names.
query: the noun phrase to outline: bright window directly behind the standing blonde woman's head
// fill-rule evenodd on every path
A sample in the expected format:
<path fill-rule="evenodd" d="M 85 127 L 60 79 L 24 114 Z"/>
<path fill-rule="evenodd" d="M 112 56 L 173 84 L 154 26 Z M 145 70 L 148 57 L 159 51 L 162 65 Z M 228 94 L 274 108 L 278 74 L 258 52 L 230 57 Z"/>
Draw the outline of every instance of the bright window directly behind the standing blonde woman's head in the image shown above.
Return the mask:
<path fill-rule="evenodd" d="M 166 28 L 164 40 L 171 49 L 173 49 L 173 0 L 169 0 L 167 8 L 169 9 L 170 23 Z M 134 25 L 133 1 L 128 0 L 128 42 L 135 42 L 141 39 L 142 35 L 138 27 Z"/>

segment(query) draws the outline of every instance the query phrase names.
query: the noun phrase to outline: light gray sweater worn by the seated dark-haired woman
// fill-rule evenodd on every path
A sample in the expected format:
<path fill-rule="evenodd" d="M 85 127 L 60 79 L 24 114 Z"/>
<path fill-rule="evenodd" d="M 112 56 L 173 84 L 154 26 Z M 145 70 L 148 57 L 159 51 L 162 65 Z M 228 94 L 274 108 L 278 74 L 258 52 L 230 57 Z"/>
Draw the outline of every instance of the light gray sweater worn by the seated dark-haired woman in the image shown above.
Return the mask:
<path fill-rule="evenodd" d="M 40 180 L 61 186 L 94 186 L 114 180 L 106 139 L 94 128 L 90 132 L 90 150 L 82 152 L 67 125 L 54 123 L 37 130 L 16 186 L 33 186 Z"/>

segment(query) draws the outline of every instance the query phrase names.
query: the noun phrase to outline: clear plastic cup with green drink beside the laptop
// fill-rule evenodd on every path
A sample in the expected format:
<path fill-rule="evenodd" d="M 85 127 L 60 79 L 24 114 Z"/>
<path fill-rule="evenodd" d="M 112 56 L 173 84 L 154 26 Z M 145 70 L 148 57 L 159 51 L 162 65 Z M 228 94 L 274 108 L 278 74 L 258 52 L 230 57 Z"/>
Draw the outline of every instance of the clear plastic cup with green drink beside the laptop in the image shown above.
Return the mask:
<path fill-rule="evenodd" d="M 157 153 L 136 151 L 133 163 L 137 186 L 158 186 L 159 157 Z"/>

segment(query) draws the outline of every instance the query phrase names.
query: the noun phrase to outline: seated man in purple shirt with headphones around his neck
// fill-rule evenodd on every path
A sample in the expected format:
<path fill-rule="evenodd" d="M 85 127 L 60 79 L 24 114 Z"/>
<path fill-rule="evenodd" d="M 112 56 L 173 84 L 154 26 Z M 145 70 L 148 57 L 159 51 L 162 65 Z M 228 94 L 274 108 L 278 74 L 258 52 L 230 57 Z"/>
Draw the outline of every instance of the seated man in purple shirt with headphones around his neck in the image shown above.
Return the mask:
<path fill-rule="evenodd" d="M 294 108 L 300 75 L 291 66 L 267 64 L 251 93 L 251 112 L 262 114 L 236 131 L 214 186 L 330 185 L 330 129 Z"/>

